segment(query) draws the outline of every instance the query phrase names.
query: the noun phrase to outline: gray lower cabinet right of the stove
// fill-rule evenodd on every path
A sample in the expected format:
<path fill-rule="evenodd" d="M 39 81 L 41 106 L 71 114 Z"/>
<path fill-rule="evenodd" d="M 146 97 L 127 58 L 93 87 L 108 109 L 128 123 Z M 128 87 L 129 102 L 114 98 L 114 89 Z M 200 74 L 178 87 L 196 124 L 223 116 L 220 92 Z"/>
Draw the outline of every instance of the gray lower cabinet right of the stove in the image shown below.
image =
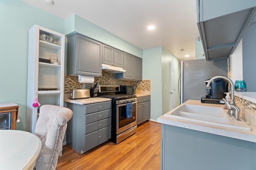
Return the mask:
<path fill-rule="evenodd" d="M 150 119 L 150 96 L 137 98 L 137 125 Z"/>

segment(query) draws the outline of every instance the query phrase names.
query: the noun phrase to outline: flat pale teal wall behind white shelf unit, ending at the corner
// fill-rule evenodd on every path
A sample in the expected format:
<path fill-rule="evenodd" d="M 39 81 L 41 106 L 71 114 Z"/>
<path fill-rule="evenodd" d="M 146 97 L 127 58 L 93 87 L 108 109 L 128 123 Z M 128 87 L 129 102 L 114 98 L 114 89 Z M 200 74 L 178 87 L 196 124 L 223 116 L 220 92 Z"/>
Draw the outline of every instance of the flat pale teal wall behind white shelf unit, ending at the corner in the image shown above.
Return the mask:
<path fill-rule="evenodd" d="M 35 24 L 64 33 L 64 20 L 20 0 L 0 1 L 0 103 L 20 106 L 20 123 L 26 129 L 28 30 Z"/>

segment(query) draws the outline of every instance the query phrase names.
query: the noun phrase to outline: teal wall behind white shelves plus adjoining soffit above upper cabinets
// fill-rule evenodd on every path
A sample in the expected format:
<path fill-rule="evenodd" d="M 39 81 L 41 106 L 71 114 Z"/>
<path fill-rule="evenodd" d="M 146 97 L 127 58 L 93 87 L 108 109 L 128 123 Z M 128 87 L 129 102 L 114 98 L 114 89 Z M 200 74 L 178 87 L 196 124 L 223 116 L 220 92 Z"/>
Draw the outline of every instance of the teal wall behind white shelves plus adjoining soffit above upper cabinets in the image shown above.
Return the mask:
<path fill-rule="evenodd" d="M 0 1 L 0 23 L 0 103 L 14 102 L 20 106 L 21 122 L 16 124 L 18 130 L 26 129 L 28 30 L 33 25 L 40 25 L 65 35 L 74 30 L 80 31 L 98 41 L 143 57 L 142 49 L 79 16 L 73 15 L 62 20 L 20 0 Z"/>

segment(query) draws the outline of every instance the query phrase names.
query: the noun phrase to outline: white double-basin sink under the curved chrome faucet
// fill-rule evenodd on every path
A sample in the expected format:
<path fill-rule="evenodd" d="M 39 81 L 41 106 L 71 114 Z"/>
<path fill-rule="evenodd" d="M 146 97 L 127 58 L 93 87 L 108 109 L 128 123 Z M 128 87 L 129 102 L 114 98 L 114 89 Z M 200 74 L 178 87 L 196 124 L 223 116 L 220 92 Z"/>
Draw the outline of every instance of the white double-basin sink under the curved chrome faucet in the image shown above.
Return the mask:
<path fill-rule="evenodd" d="M 232 117 L 228 116 L 227 111 L 221 107 L 184 104 L 169 111 L 164 116 L 247 131 L 251 130 L 244 121 L 233 120 Z"/>

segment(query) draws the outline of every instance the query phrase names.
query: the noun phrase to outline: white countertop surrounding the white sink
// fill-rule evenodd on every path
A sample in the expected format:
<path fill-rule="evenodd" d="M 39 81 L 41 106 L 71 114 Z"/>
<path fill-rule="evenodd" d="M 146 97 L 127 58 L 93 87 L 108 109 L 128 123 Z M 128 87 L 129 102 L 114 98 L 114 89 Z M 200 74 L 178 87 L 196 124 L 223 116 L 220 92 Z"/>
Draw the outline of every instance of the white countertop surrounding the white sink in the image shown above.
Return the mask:
<path fill-rule="evenodd" d="M 220 104 L 202 104 L 199 100 L 188 100 L 184 104 L 200 105 L 200 106 L 213 106 L 213 107 L 224 107 Z M 171 111 L 170 111 L 171 112 Z M 169 113 L 169 112 L 168 112 Z M 177 127 L 183 127 L 186 129 L 192 129 L 196 131 L 202 131 L 206 133 L 212 133 L 216 135 L 231 137 L 235 139 L 241 139 L 244 141 L 250 141 L 256 143 L 256 127 L 251 127 L 251 131 L 234 129 L 230 127 L 222 127 L 218 125 L 210 125 L 207 123 L 200 123 L 182 119 L 175 119 L 171 117 L 166 117 L 164 115 L 158 117 L 158 123 L 163 123 L 166 125 L 172 125 Z"/>

